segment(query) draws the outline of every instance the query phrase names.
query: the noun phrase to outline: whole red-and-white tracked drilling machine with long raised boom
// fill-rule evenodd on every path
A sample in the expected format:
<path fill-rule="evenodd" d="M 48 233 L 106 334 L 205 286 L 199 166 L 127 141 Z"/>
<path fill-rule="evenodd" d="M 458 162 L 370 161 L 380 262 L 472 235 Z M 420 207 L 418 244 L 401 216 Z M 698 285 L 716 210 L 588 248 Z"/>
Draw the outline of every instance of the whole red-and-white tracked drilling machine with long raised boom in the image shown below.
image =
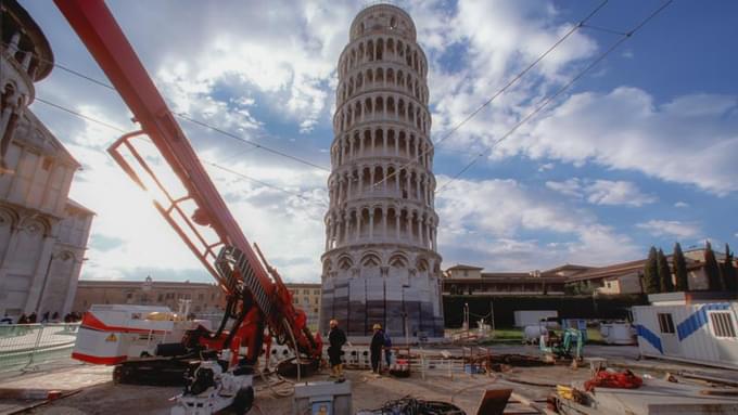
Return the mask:
<path fill-rule="evenodd" d="M 116 333 L 123 336 L 145 334 L 153 329 L 153 325 L 162 324 L 152 322 L 149 324 L 152 327 L 149 327 L 141 313 L 138 322 L 133 322 L 135 310 L 128 310 L 130 313 L 123 310 L 125 315 L 129 315 L 123 323 L 106 323 L 105 319 L 113 315 L 112 311 L 100 309 L 100 315 L 96 316 L 93 309 L 82 319 L 80 343 L 74 356 L 92 363 L 117 364 L 119 380 L 148 371 L 147 377 L 154 382 L 158 371 L 165 372 L 171 365 L 183 366 L 182 362 L 193 356 L 212 355 L 214 361 L 219 360 L 219 368 L 204 368 L 200 364 L 194 372 L 203 372 L 199 375 L 201 378 L 194 376 L 194 372 L 190 374 L 190 386 L 202 384 L 199 384 L 198 390 L 190 388 L 191 394 L 207 389 L 203 385 L 217 384 L 212 379 L 214 377 L 234 371 L 241 371 L 236 375 L 247 373 L 249 367 L 255 365 L 265 338 L 289 345 L 303 361 L 318 362 L 322 351 L 320 336 L 313 336 L 305 313 L 293 306 L 292 295 L 280 275 L 264 258 L 259 258 L 258 249 L 255 251 L 249 244 L 107 7 L 102 0 L 54 2 L 139 126 L 138 130 L 118 139 L 109 148 L 110 154 L 139 186 L 151 194 L 156 210 L 218 282 L 228 298 L 217 329 L 209 330 L 205 325 L 191 323 L 177 325 L 186 328 L 181 330 L 183 335 L 180 338 L 157 345 L 139 359 L 131 359 L 126 353 L 104 355 L 104 348 L 94 347 L 96 341 L 101 336 L 100 345 L 106 339 L 117 340 Z M 156 156 L 165 163 L 152 164 L 150 154 L 142 151 L 144 147 L 155 148 Z M 229 322 L 232 323 L 227 327 Z M 176 329 L 163 330 L 165 334 L 178 333 Z M 88 343 L 82 343 L 85 341 Z M 245 355 L 240 355 L 244 347 Z"/>

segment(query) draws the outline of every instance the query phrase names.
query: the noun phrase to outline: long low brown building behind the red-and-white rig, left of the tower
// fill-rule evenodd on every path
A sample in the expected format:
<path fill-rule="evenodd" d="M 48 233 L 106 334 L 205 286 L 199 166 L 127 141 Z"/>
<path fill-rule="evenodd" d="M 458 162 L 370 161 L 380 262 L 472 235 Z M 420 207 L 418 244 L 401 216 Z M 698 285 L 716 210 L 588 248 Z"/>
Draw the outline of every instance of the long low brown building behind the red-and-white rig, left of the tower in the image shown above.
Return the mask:
<path fill-rule="evenodd" d="M 226 294 L 213 283 L 153 281 L 92 281 L 77 285 L 73 311 L 84 312 L 92 304 L 165 306 L 177 311 L 179 300 L 190 300 L 190 312 L 221 313 Z"/>

